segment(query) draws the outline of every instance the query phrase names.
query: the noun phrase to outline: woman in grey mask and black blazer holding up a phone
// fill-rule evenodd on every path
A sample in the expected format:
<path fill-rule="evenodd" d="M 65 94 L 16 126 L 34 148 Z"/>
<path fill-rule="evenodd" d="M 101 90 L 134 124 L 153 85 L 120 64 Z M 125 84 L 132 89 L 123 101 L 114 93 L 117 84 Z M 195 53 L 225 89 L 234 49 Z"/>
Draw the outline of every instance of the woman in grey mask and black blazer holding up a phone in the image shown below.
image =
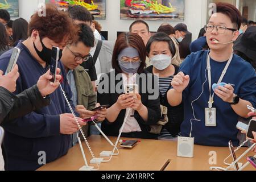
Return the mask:
<path fill-rule="evenodd" d="M 98 84 L 98 102 L 110 105 L 101 125 L 106 135 L 122 132 L 122 137 L 157 139 L 158 135 L 148 131 L 160 118 L 159 91 L 154 90 L 154 75 L 143 70 L 145 60 L 146 49 L 139 35 L 118 36 L 112 57 L 115 70 L 102 76 Z M 125 93 L 129 85 L 138 85 L 138 92 Z"/>

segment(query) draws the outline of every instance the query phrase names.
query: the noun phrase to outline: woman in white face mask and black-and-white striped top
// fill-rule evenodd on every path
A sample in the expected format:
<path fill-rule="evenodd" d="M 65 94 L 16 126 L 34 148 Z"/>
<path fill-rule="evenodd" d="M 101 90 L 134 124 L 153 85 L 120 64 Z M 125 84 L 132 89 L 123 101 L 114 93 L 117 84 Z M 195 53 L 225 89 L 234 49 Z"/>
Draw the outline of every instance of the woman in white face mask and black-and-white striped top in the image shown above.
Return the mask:
<path fill-rule="evenodd" d="M 175 44 L 171 38 L 158 32 L 148 40 L 146 45 L 147 55 L 152 65 L 148 72 L 158 75 L 160 103 L 168 108 L 168 123 L 163 126 L 158 139 L 176 140 L 180 136 L 180 125 L 183 121 L 183 105 L 172 107 L 167 101 L 167 91 L 171 89 L 171 81 L 179 71 L 179 67 L 172 63 L 172 55 L 175 55 Z"/>

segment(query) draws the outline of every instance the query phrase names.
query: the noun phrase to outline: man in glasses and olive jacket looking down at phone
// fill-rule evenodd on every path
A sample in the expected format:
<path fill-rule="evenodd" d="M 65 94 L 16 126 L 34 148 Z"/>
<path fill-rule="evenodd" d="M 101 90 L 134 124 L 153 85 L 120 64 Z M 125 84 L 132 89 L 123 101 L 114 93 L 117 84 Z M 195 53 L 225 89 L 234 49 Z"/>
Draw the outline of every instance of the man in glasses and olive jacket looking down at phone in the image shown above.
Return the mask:
<path fill-rule="evenodd" d="M 67 80 L 73 93 L 72 101 L 76 106 L 77 113 L 80 114 L 80 118 L 86 119 L 98 115 L 96 120 L 104 121 L 106 109 L 90 111 L 94 107 L 100 106 L 100 104 L 96 104 L 96 93 L 93 90 L 88 73 L 80 66 L 90 58 L 89 52 L 94 46 L 93 31 L 86 24 L 79 24 L 79 27 L 78 40 L 63 49 L 61 62 L 67 73 Z M 82 130 L 86 137 L 88 133 L 90 134 L 88 125 L 83 126 Z M 77 135 L 74 133 L 69 147 L 75 146 L 77 142 Z"/>

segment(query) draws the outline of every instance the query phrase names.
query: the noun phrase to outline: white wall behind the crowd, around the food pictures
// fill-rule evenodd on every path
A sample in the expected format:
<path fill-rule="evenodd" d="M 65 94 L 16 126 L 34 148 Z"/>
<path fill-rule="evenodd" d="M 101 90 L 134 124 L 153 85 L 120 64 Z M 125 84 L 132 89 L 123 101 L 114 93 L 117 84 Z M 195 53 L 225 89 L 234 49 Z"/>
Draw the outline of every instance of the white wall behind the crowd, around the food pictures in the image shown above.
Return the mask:
<path fill-rule="evenodd" d="M 115 3 L 109 2 L 115 1 Z M 19 0 L 19 16 L 29 20 L 30 16 L 36 11 L 38 0 Z M 192 40 L 197 38 L 200 28 L 206 24 L 207 19 L 207 1 L 205 0 L 185 0 L 185 20 L 188 31 L 192 32 Z M 115 40 L 117 31 L 129 31 L 129 26 L 133 20 L 120 20 L 120 1 L 106 1 L 106 19 L 98 20 L 103 31 L 109 32 L 109 40 Z M 161 21 L 147 21 L 150 31 L 156 31 Z M 169 22 L 175 26 L 179 22 Z"/>

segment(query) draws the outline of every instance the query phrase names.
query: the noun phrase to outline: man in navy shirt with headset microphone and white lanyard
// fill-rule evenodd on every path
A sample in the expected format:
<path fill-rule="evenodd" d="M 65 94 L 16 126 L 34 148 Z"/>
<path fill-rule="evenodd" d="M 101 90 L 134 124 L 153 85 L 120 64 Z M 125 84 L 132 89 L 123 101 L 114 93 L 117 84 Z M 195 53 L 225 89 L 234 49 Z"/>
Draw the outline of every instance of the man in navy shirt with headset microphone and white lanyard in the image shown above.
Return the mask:
<path fill-rule="evenodd" d="M 228 3 L 217 3 L 205 26 L 208 51 L 192 53 L 172 80 L 168 102 L 184 102 L 181 135 L 195 137 L 196 144 L 237 146 L 238 116 L 247 118 L 246 105 L 256 106 L 256 73 L 241 57 L 233 54 L 239 35 L 241 13 Z M 214 83 L 224 82 L 216 86 Z M 214 89 L 214 90 L 213 90 Z"/>

